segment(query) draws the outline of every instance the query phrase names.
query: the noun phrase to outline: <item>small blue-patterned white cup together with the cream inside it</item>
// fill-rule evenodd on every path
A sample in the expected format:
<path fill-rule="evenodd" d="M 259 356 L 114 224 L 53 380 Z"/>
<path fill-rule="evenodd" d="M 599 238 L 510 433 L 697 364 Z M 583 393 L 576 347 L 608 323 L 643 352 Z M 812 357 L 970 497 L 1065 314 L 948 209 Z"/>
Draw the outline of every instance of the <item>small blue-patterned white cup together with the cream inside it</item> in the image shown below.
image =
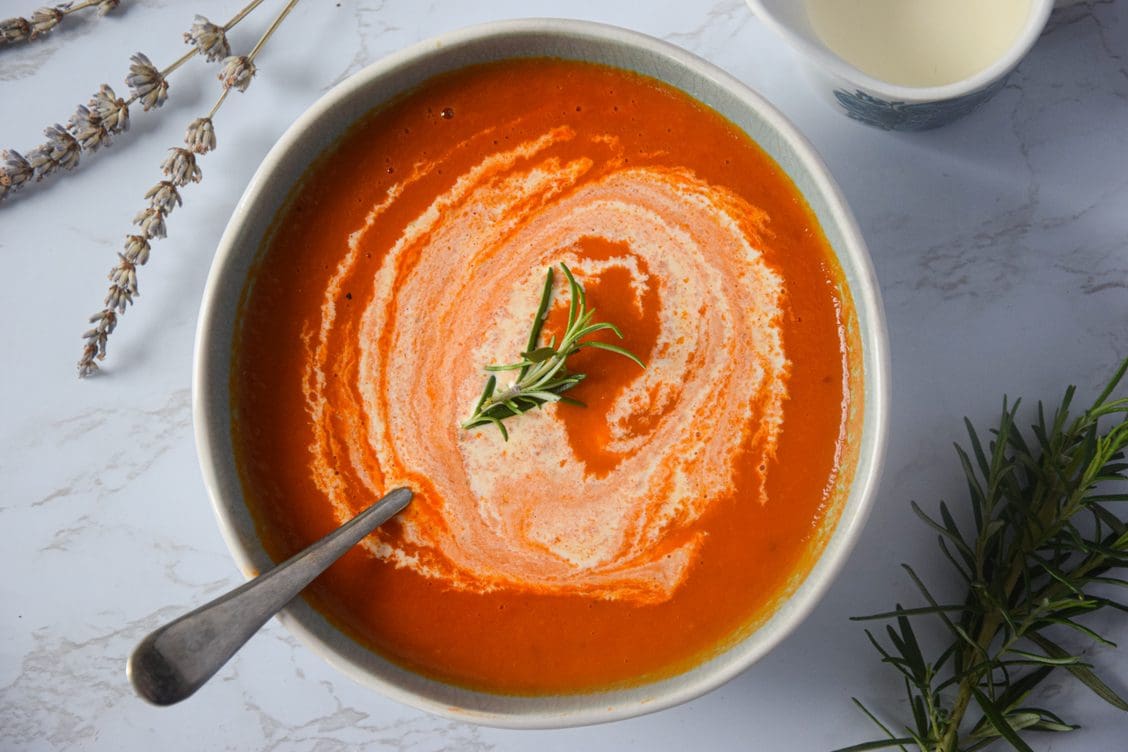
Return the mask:
<path fill-rule="evenodd" d="M 747 0 L 849 117 L 891 131 L 945 125 L 989 99 L 1030 51 L 1052 0 Z M 1076 1 L 1076 0 L 1074 0 Z"/>

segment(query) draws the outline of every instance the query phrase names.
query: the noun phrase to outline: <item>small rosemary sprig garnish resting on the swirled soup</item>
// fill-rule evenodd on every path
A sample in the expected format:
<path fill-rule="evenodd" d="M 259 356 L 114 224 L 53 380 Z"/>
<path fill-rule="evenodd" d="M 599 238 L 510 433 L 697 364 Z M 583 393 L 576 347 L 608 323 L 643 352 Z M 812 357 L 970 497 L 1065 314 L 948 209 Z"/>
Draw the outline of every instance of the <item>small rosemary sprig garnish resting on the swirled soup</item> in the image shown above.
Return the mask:
<path fill-rule="evenodd" d="M 509 431 L 505 430 L 502 421 L 520 415 L 527 410 L 540 407 L 546 402 L 564 401 L 571 405 L 583 407 L 583 402 L 563 397 L 562 392 L 567 391 L 580 383 L 587 374 L 573 373 L 569 371 L 565 361 L 584 347 L 606 350 L 618 353 L 624 357 L 629 357 L 642 368 L 646 368 L 634 353 L 618 345 L 600 342 L 598 339 L 584 339 L 597 331 L 614 331 L 622 339 L 623 333 L 614 324 L 606 321 L 592 324 L 596 316 L 594 309 L 588 308 L 588 299 L 583 287 L 572 272 L 564 264 L 561 264 L 564 276 L 569 284 L 569 309 L 567 326 L 564 327 L 564 336 L 556 345 L 556 337 L 553 336 L 547 345 L 540 345 L 540 329 L 545 325 L 548 316 L 548 304 L 553 295 L 553 269 L 548 268 L 545 275 L 545 287 L 540 293 L 540 304 L 537 307 L 537 315 L 532 319 L 532 328 L 529 331 L 529 343 L 521 360 L 504 365 L 487 365 L 486 371 L 491 371 L 486 386 L 482 390 L 482 396 L 474 405 L 470 417 L 462 421 L 462 428 L 476 428 L 478 426 L 493 424 L 497 426 L 502 437 L 509 441 Z M 517 371 L 517 379 L 508 388 L 497 391 L 497 377 L 495 373 L 504 371 Z"/>

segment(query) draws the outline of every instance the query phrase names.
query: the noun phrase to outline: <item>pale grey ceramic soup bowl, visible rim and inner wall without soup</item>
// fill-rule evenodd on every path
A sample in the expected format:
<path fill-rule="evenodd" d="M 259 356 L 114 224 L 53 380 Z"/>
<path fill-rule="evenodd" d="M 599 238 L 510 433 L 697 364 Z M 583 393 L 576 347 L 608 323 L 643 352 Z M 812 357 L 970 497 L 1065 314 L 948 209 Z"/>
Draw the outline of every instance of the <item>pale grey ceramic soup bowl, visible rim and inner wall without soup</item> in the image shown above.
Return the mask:
<path fill-rule="evenodd" d="M 743 129 L 807 197 L 853 294 L 864 371 L 864 415 L 848 497 L 807 577 L 740 643 L 680 675 L 627 689 L 554 697 L 491 695 L 412 673 L 362 647 L 303 600 L 282 622 L 356 681 L 431 713 L 509 727 L 557 727 L 626 718 L 685 702 L 732 679 L 778 644 L 812 610 L 857 539 L 881 468 L 888 406 L 884 319 L 870 258 L 838 187 L 807 140 L 742 83 L 710 63 L 641 34 L 572 20 L 478 26 L 423 42 L 335 87 L 271 150 L 227 227 L 200 313 L 193 383 L 196 444 L 204 479 L 231 554 L 249 577 L 273 565 L 244 503 L 231 436 L 230 369 L 238 307 L 263 238 L 314 159 L 359 118 L 424 80 L 472 63 L 514 56 L 593 61 L 678 87 Z"/>

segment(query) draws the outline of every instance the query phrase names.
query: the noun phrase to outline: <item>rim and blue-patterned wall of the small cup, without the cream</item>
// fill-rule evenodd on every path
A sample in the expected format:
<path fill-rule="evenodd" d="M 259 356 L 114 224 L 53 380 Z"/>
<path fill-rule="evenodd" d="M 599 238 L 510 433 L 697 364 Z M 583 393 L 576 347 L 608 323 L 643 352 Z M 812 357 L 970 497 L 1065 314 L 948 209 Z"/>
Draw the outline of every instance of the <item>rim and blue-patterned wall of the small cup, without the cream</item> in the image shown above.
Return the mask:
<path fill-rule="evenodd" d="M 1038 41 L 1050 11 L 1078 0 L 1031 0 L 1022 28 L 1001 55 L 972 74 L 940 86 L 905 86 L 863 72 L 816 33 L 803 0 L 747 2 L 802 55 L 811 82 L 837 109 L 887 131 L 924 131 L 962 117 L 994 96 Z"/>

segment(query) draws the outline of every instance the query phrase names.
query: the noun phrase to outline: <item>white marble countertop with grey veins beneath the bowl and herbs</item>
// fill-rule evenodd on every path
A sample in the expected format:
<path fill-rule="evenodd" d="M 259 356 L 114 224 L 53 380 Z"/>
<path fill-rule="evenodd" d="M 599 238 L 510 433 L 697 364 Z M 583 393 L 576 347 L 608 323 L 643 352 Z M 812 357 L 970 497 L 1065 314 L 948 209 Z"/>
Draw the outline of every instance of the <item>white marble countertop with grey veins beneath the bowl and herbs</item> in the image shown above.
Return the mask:
<path fill-rule="evenodd" d="M 0 16 L 35 5 L 3 0 Z M 123 0 L 105 19 L 0 48 L 0 147 L 30 149 L 102 82 L 122 91 L 131 53 L 165 64 L 194 12 L 222 23 L 240 5 Z M 237 48 L 270 12 L 233 32 Z M 437 33 L 522 16 L 607 21 L 686 47 L 763 92 L 829 163 L 873 254 L 891 335 L 887 474 L 860 547 L 766 660 L 634 720 L 510 732 L 431 717 L 353 684 L 274 622 L 190 701 L 146 705 L 124 672 L 134 644 L 239 581 L 201 481 L 190 407 L 196 312 L 232 206 L 275 139 L 335 82 Z M 219 150 L 155 244 L 143 295 L 98 378 L 74 374 L 86 319 L 166 149 L 211 106 L 211 73 L 193 61 L 166 107 L 135 110 L 111 149 L 0 205 L 0 749 L 805 751 L 875 736 L 851 696 L 905 716 L 897 678 L 847 617 L 917 602 L 901 561 L 942 570 L 909 499 L 964 498 L 951 449 L 962 416 L 986 428 L 1007 390 L 1054 402 L 1075 382 L 1089 398 L 1128 355 L 1126 6 L 1058 12 L 995 99 L 916 135 L 831 112 L 741 0 L 308 0 L 259 63 L 217 118 Z M 1126 620 L 1099 623 L 1128 643 Z M 1121 692 L 1125 649 L 1086 653 Z M 1067 676 L 1047 695 L 1084 728 L 1040 736 L 1037 749 L 1125 749 L 1128 715 Z"/>

